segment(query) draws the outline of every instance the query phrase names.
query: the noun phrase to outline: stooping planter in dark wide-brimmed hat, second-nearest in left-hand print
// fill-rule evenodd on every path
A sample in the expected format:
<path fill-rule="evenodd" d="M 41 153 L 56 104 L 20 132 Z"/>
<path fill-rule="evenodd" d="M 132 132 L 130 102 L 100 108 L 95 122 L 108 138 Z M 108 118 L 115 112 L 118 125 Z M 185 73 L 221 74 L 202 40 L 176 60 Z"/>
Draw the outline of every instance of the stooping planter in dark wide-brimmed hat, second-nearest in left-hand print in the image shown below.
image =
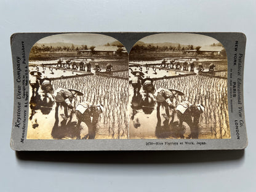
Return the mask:
<path fill-rule="evenodd" d="M 58 119 L 58 106 L 62 105 L 64 107 L 64 114 L 66 118 L 68 118 L 68 108 L 71 110 L 74 110 L 74 106 L 76 104 L 76 97 L 82 96 L 81 92 L 76 89 L 62 89 L 59 88 L 55 91 L 55 102 L 56 102 L 56 108 L 55 108 L 55 119 Z"/>

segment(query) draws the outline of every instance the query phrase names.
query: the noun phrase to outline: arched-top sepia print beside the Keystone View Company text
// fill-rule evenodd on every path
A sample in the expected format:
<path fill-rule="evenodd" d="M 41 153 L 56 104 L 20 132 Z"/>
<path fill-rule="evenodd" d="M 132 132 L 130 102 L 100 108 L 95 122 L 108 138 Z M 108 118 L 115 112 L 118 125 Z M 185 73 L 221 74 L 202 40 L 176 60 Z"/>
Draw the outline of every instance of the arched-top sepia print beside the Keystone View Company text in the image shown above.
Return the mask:
<path fill-rule="evenodd" d="M 110 36 L 56 34 L 30 51 L 27 139 L 129 138 L 128 54 Z"/>

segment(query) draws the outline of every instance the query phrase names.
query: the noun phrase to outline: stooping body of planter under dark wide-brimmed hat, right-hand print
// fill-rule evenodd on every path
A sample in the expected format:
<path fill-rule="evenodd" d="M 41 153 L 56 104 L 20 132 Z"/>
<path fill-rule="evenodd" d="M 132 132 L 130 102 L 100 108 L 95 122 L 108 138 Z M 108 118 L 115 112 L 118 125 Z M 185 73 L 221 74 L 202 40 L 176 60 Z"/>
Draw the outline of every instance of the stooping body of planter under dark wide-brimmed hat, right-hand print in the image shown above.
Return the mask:
<path fill-rule="evenodd" d="M 166 116 L 164 118 L 169 120 L 170 118 L 169 106 L 173 107 L 172 102 L 174 100 L 175 95 L 168 89 L 159 88 L 154 93 L 154 97 L 156 98 L 156 102 L 158 103 L 158 106 L 156 107 L 157 117 L 158 118 L 160 117 L 160 106 L 162 105 L 166 110 Z"/>

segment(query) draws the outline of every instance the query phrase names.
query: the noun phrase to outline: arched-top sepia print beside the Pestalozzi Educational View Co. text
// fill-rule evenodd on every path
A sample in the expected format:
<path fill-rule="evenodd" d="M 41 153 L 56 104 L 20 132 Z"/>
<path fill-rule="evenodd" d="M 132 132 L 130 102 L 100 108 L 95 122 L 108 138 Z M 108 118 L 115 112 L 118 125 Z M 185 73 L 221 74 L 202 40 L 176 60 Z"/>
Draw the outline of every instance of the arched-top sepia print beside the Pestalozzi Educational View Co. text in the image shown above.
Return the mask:
<path fill-rule="evenodd" d="M 228 61 L 217 39 L 161 33 L 129 54 L 129 138 L 231 138 Z"/>

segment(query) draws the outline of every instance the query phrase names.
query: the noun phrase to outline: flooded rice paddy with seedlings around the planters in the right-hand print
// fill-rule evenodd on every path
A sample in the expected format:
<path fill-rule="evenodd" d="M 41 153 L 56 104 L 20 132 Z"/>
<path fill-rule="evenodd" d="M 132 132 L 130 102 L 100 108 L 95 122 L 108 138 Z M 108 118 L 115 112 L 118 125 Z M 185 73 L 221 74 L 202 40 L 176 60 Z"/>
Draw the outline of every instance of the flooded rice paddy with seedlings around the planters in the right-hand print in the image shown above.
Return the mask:
<path fill-rule="evenodd" d="M 153 71 L 153 67 L 146 69 L 146 63 L 158 64 L 159 61 L 141 61 L 130 62 L 130 78 L 134 78 L 132 71 L 142 71 L 145 77 L 155 78 L 153 81 L 154 88 L 178 89 L 185 95 L 174 98 L 174 105 L 183 101 L 188 101 L 193 105 L 202 104 L 205 107 L 204 113 L 199 119 L 199 138 L 230 138 L 230 127 L 228 119 L 228 92 L 226 79 L 218 78 L 226 77 L 227 71 L 215 72 L 215 76 L 203 76 L 198 74 L 198 70 L 194 71 L 194 75 L 188 74 L 183 70 L 170 70 L 159 67 Z M 209 71 L 209 64 L 212 60 L 204 59 L 201 61 Z M 168 60 L 167 60 L 168 63 Z M 133 66 L 141 65 L 141 66 Z M 197 67 L 196 63 L 196 67 Z M 216 60 L 216 70 L 227 70 L 226 60 Z M 190 71 L 190 69 L 188 70 Z M 146 73 L 147 72 L 147 73 Z M 185 75 L 187 74 L 187 75 Z M 162 77 L 172 76 L 172 78 L 163 79 Z M 151 111 L 145 111 L 143 108 L 132 106 L 132 102 L 137 99 L 133 94 L 133 87 L 129 86 L 129 113 L 130 113 L 130 138 L 179 138 L 178 134 L 178 118 L 175 110 L 170 110 L 170 116 L 174 113 L 174 122 L 170 123 L 164 116 L 166 111 L 161 106 L 161 118 L 157 118 L 156 105 Z M 140 95 L 145 94 L 140 90 Z M 190 127 L 183 123 L 185 128 L 185 137 L 190 135 Z"/>

